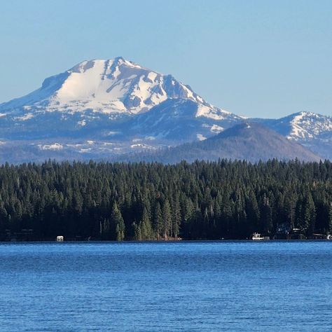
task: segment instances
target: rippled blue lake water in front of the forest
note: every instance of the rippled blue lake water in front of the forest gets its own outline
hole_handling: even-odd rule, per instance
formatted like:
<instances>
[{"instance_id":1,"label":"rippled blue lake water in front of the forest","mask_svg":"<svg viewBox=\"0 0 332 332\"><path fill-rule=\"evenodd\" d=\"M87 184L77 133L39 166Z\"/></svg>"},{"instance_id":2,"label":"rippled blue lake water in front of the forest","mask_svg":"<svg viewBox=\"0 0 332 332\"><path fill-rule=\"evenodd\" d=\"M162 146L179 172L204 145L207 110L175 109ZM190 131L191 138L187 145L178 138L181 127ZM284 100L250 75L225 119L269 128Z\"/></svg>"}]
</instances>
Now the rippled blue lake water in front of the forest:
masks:
<instances>
[{"instance_id":1,"label":"rippled blue lake water in front of the forest","mask_svg":"<svg viewBox=\"0 0 332 332\"><path fill-rule=\"evenodd\" d=\"M0 244L0 331L332 331L332 241Z\"/></svg>"}]
</instances>

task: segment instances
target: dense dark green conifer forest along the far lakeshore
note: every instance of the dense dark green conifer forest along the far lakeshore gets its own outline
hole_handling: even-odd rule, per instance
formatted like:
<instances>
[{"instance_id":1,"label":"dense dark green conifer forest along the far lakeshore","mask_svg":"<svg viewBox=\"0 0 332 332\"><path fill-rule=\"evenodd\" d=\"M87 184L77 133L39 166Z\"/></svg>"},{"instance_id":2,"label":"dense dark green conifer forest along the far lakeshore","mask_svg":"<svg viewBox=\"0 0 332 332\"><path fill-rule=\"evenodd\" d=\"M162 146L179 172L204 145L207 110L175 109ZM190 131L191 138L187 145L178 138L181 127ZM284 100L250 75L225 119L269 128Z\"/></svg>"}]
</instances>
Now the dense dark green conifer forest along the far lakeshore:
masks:
<instances>
[{"instance_id":1,"label":"dense dark green conifer forest along the far lakeshore","mask_svg":"<svg viewBox=\"0 0 332 332\"><path fill-rule=\"evenodd\" d=\"M244 239L332 231L332 163L48 161L0 167L0 240Z\"/></svg>"}]
</instances>

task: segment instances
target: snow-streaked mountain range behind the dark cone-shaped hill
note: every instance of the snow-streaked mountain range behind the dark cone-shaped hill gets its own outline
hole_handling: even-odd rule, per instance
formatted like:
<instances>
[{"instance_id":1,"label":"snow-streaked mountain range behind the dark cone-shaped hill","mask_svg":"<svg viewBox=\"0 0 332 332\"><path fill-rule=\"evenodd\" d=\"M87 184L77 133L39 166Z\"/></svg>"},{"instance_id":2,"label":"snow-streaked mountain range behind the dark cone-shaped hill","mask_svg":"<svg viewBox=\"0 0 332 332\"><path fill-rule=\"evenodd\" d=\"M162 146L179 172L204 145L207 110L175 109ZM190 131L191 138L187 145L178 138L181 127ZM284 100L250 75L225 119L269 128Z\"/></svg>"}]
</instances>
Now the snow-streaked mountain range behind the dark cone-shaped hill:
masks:
<instances>
[{"instance_id":1,"label":"snow-streaked mountain range behind the dark cone-shaped hill","mask_svg":"<svg viewBox=\"0 0 332 332\"><path fill-rule=\"evenodd\" d=\"M122 57L83 61L0 104L0 162L106 159L202 141L243 120L171 75ZM296 113L255 120L332 159L331 118Z\"/></svg>"}]
</instances>

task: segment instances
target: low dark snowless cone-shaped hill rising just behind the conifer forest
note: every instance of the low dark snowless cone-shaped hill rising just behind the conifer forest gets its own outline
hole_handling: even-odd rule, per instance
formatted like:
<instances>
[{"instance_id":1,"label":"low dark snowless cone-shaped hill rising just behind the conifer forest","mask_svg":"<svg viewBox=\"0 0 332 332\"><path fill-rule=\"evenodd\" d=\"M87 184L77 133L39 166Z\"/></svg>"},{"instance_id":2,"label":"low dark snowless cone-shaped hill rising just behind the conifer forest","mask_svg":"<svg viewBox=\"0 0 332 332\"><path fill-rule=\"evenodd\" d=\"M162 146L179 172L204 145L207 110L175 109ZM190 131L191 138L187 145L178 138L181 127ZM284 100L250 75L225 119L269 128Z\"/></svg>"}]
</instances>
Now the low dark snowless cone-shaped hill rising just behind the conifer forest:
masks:
<instances>
[{"instance_id":1,"label":"low dark snowless cone-shaped hill rising just behind the conifer forest","mask_svg":"<svg viewBox=\"0 0 332 332\"><path fill-rule=\"evenodd\" d=\"M259 123L241 123L204 141L174 146L153 153L126 155L126 161L158 161L175 163L181 160L291 160L319 161L320 157L300 144Z\"/></svg>"}]
</instances>

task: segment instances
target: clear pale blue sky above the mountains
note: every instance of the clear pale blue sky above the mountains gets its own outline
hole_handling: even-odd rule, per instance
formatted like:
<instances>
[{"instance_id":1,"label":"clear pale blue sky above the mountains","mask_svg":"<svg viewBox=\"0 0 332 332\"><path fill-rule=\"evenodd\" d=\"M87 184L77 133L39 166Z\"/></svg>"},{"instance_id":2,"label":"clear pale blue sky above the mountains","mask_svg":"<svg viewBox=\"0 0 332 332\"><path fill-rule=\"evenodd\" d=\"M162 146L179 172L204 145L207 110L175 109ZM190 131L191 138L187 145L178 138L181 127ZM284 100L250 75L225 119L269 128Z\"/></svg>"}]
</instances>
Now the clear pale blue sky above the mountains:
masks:
<instances>
[{"instance_id":1,"label":"clear pale blue sky above the mountains","mask_svg":"<svg viewBox=\"0 0 332 332\"><path fill-rule=\"evenodd\" d=\"M233 113L332 116L331 0L1 0L0 50L0 102L121 55Z\"/></svg>"}]
</instances>

